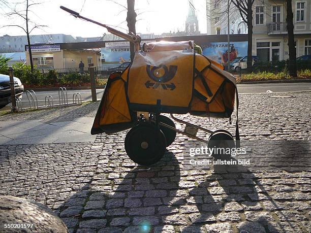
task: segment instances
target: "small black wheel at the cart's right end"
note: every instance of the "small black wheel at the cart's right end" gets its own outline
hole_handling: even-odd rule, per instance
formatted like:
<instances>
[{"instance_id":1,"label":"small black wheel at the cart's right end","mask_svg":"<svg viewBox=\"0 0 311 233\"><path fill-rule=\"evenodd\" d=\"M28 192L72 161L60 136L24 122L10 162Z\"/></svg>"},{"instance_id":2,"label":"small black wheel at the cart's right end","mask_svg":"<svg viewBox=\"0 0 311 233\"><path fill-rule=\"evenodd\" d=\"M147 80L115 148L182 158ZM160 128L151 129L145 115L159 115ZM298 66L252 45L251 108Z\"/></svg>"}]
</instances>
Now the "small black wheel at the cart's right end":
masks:
<instances>
[{"instance_id":1,"label":"small black wheel at the cart's right end","mask_svg":"<svg viewBox=\"0 0 311 233\"><path fill-rule=\"evenodd\" d=\"M234 139L229 131L219 129L209 136L208 147L217 150L212 154L215 158L227 158L231 156L229 149L235 148Z\"/></svg>"}]
</instances>

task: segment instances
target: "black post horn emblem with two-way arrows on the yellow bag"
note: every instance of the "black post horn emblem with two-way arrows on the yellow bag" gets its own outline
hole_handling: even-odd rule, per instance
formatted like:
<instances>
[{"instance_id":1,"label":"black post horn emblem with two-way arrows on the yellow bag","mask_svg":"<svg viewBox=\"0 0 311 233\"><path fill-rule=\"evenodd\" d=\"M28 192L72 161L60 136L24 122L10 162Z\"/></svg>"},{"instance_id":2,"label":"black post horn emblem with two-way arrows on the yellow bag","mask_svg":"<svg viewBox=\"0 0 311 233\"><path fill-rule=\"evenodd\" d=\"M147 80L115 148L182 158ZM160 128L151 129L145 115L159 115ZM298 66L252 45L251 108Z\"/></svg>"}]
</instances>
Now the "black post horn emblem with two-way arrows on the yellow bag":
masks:
<instances>
[{"instance_id":1,"label":"black post horn emblem with two-way arrows on the yellow bag","mask_svg":"<svg viewBox=\"0 0 311 233\"><path fill-rule=\"evenodd\" d=\"M164 74L161 77L157 76L160 69L164 70ZM177 72L177 65L170 65L169 69L167 68L166 65L159 65L159 66L154 65L154 66L152 66L152 68L151 68L151 65L147 65L146 70L147 70L147 74L148 74L149 78L155 82L154 83L154 82L148 80L145 83L145 86L147 88L152 87L153 89L157 89L161 84L161 86L164 90L168 90L168 89L174 90L175 89L176 86L174 83L169 83L169 84L164 84L164 83L169 82L170 80L172 80L172 78L174 78L174 76L176 75L176 72Z\"/></svg>"}]
</instances>

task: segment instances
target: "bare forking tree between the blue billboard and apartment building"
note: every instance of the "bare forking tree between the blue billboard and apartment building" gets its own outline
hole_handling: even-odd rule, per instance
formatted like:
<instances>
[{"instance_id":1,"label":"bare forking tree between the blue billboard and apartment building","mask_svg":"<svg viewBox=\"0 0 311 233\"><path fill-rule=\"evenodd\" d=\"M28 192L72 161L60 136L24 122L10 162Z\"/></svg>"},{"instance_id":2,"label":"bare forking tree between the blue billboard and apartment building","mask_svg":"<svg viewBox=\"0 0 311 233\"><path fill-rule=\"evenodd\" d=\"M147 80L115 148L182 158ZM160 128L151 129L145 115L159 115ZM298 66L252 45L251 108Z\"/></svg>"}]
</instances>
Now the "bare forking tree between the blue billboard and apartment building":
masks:
<instances>
[{"instance_id":1,"label":"bare forking tree between the blue billboard and apartment building","mask_svg":"<svg viewBox=\"0 0 311 233\"><path fill-rule=\"evenodd\" d=\"M252 71L253 56L253 4L255 0L232 0L237 7L243 21L247 24L247 71Z\"/></svg>"}]
</instances>

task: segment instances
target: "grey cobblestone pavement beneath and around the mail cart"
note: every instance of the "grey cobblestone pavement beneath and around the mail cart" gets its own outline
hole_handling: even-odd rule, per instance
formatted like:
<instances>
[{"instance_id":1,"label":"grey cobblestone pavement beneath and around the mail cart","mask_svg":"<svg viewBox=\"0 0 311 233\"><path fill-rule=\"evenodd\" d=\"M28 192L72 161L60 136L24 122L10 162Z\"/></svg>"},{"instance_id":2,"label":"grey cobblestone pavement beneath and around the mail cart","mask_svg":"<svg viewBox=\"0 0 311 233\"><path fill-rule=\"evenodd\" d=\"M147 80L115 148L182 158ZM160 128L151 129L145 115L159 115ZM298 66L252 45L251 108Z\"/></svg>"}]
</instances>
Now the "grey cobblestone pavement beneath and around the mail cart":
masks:
<instances>
[{"instance_id":1,"label":"grey cobblestone pavement beneath and around the mail cart","mask_svg":"<svg viewBox=\"0 0 311 233\"><path fill-rule=\"evenodd\" d=\"M0 195L47 205L71 232L311 232L311 93L273 95L240 95L242 142L273 145L291 140L284 150L299 144L306 150L278 158L271 156L273 151L255 153L256 168L187 171L183 152L189 140L181 135L149 170L127 156L125 131L98 135L94 143L2 145ZM97 107L5 115L0 120L91 117ZM227 119L179 117L234 132Z\"/></svg>"}]
</instances>

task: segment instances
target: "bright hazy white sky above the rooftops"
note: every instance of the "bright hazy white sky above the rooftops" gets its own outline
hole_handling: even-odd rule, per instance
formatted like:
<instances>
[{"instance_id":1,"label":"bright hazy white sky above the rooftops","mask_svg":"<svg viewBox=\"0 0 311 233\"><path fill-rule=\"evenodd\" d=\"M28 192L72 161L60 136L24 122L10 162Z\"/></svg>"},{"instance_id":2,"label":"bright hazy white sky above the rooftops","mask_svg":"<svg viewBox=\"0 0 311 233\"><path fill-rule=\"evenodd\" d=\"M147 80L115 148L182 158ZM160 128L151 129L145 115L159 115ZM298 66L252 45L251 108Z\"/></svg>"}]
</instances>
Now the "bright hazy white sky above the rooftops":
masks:
<instances>
[{"instance_id":1,"label":"bright hazy white sky above the rooftops","mask_svg":"<svg viewBox=\"0 0 311 233\"><path fill-rule=\"evenodd\" d=\"M16 0L7 0L14 5ZM35 3L39 0L29 0ZM206 0L194 0L199 20L199 30L206 33ZM101 23L118 26L126 32L127 11L123 6L127 0L43 0L43 4L32 6L30 20L37 24L47 25L44 29L34 29L33 35L40 34L66 34L80 37L99 37L107 33L106 28L90 22L76 19L69 13L59 9L59 6L70 8L80 15ZM136 0L135 10L137 13L136 32L154 33L183 31L186 16L188 15L188 0ZM17 8L20 9L20 8ZM5 12L10 9L0 9L0 36L24 35L25 32L19 27L2 27L9 24L23 25L18 17L8 17Z\"/></svg>"}]
</instances>

